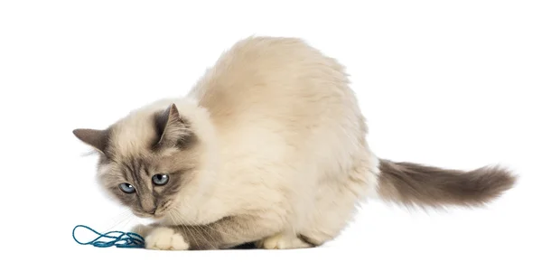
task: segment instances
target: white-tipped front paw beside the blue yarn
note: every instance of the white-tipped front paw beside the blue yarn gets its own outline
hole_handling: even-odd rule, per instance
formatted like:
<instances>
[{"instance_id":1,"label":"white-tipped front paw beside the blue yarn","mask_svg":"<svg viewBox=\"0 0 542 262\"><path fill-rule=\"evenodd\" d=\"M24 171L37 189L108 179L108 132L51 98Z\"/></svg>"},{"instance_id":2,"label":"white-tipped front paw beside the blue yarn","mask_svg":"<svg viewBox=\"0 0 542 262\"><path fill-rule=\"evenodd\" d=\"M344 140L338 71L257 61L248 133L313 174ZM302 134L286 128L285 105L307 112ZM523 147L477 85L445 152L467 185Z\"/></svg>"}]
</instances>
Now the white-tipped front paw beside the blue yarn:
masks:
<instances>
[{"instance_id":1,"label":"white-tipped front paw beside the blue yarn","mask_svg":"<svg viewBox=\"0 0 542 262\"><path fill-rule=\"evenodd\" d=\"M145 248L155 250L188 250L188 243L181 234L168 228L153 229L145 238Z\"/></svg>"}]
</instances>

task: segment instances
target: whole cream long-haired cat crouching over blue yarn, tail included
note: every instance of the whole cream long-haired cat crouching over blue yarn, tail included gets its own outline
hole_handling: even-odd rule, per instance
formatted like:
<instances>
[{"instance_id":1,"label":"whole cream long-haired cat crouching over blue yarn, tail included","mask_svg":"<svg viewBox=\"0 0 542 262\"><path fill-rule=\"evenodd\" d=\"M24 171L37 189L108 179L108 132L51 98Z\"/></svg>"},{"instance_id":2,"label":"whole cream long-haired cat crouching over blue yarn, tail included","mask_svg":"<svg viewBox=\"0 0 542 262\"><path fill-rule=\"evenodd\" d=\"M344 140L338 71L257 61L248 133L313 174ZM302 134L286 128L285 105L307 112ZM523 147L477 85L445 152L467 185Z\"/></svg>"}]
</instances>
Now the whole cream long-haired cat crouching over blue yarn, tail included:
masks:
<instances>
[{"instance_id":1,"label":"whole cream long-haired cat crouching over blue yarn, tail included","mask_svg":"<svg viewBox=\"0 0 542 262\"><path fill-rule=\"evenodd\" d=\"M349 75L290 37L249 36L186 96L74 136L98 153L100 187L136 216L145 248L314 248L369 198L478 207L511 189L501 166L472 171L379 158Z\"/></svg>"}]
</instances>

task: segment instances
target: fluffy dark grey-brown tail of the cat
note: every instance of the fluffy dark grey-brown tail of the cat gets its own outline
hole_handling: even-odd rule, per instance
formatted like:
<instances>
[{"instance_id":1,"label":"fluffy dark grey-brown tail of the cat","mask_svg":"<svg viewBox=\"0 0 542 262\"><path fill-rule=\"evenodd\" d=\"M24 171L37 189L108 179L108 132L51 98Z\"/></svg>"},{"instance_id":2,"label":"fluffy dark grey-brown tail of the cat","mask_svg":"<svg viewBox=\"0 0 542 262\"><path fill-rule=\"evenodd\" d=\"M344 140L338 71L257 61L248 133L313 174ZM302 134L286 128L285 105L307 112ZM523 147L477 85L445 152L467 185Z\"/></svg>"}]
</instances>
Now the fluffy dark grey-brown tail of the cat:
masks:
<instances>
[{"instance_id":1,"label":"fluffy dark grey-brown tail of the cat","mask_svg":"<svg viewBox=\"0 0 542 262\"><path fill-rule=\"evenodd\" d=\"M381 159L379 168L380 197L406 206L481 206L516 183L516 177L500 167L465 172Z\"/></svg>"}]
</instances>

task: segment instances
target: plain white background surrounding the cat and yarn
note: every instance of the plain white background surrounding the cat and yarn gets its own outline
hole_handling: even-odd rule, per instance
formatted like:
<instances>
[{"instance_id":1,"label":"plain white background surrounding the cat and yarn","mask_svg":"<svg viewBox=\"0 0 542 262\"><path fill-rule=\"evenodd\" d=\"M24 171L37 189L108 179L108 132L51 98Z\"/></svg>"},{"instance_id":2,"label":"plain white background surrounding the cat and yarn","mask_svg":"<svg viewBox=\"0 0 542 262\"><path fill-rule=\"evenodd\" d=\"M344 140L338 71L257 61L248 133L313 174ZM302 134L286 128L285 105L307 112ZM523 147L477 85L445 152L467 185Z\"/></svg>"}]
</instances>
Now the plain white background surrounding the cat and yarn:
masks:
<instances>
[{"instance_id":1,"label":"plain white background surrounding the cat and yarn","mask_svg":"<svg viewBox=\"0 0 542 262\"><path fill-rule=\"evenodd\" d=\"M0 256L541 261L541 14L540 1L3 1ZM81 156L89 148L71 130L182 96L252 34L301 37L341 61L380 157L505 164L519 173L517 188L476 210L372 201L322 248L172 253L75 243L77 224L105 231L137 220L98 190L96 158Z\"/></svg>"}]
</instances>

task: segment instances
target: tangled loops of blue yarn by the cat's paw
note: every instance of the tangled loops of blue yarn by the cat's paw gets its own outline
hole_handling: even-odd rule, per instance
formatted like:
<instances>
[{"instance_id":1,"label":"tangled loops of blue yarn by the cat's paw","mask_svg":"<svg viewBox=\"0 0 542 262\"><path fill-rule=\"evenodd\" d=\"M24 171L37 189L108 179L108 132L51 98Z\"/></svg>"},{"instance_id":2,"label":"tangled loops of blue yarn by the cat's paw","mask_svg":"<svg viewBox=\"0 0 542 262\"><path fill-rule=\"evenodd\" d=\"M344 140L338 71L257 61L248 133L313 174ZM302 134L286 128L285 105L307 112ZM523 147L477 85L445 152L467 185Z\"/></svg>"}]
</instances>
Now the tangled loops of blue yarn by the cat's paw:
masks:
<instances>
[{"instance_id":1,"label":"tangled loops of blue yarn by the cat's paw","mask_svg":"<svg viewBox=\"0 0 542 262\"><path fill-rule=\"evenodd\" d=\"M80 242L78 239L75 238L75 229L77 228L89 229L90 231L97 234L98 238L92 239L89 242ZM143 239L143 237L133 232L109 231L105 234L101 234L101 233L98 233L98 231L94 229L90 229L87 226L78 225L75 228L73 228L73 231L71 231L71 236L80 245L93 245L94 247L97 247L97 248L109 248L113 246L117 248L144 248L145 247L145 239ZM111 239L111 240L98 241L98 239L101 239L101 238Z\"/></svg>"}]
</instances>

